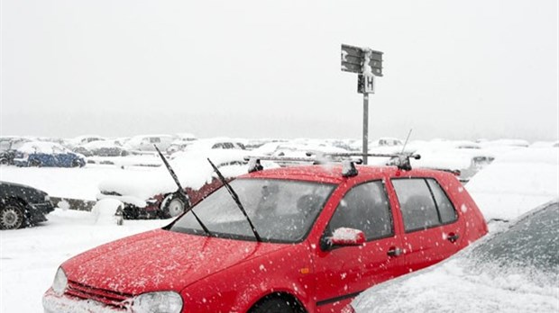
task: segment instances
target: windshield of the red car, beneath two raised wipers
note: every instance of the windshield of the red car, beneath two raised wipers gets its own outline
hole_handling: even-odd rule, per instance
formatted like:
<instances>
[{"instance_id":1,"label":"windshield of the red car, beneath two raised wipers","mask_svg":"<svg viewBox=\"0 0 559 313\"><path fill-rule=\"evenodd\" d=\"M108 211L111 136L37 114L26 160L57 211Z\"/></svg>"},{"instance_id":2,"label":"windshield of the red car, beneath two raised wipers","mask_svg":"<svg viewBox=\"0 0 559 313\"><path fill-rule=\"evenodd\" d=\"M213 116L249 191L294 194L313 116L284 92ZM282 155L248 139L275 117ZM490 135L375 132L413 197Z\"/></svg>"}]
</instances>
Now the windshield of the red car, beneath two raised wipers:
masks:
<instances>
[{"instance_id":1,"label":"windshield of the red car, beneath two raised wipers","mask_svg":"<svg viewBox=\"0 0 559 313\"><path fill-rule=\"evenodd\" d=\"M299 242L322 210L335 185L280 179L236 179L230 183L261 239ZM243 212L225 188L200 201L192 210L214 237L255 240ZM171 231L205 235L192 212L172 224Z\"/></svg>"}]
</instances>

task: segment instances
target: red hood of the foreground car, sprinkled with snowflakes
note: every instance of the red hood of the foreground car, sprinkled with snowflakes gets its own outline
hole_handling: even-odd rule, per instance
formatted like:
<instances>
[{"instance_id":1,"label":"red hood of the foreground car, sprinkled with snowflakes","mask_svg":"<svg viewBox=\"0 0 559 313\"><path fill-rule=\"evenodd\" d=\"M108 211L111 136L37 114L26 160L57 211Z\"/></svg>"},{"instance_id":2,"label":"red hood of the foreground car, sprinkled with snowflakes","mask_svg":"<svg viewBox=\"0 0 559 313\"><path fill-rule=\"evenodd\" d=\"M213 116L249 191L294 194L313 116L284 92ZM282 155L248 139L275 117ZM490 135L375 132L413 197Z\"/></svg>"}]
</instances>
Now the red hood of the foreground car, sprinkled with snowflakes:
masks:
<instances>
[{"instance_id":1,"label":"red hood of the foreground car, sprinkled with snowflakes","mask_svg":"<svg viewBox=\"0 0 559 313\"><path fill-rule=\"evenodd\" d=\"M181 291L213 273L286 247L157 229L98 246L62 268L69 281L95 289L130 295Z\"/></svg>"}]
</instances>

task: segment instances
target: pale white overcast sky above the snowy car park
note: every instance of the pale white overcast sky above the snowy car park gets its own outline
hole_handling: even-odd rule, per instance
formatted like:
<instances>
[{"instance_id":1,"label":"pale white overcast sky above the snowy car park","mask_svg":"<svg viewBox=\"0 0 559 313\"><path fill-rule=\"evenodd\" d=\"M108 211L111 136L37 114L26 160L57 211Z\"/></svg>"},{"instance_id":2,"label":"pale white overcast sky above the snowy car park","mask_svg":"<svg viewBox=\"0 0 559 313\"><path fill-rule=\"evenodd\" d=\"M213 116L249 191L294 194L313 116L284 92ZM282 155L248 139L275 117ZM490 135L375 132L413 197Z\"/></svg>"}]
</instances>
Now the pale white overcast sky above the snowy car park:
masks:
<instances>
[{"instance_id":1,"label":"pale white overcast sky above the snowy car park","mask_svg":"<svg viewBox=\"0 0 559 313\"><path fill-rule=\"evenodd\" d=\"M558 137L557 0L2 0L1 135Z\"/></svg>"}]
</instances>

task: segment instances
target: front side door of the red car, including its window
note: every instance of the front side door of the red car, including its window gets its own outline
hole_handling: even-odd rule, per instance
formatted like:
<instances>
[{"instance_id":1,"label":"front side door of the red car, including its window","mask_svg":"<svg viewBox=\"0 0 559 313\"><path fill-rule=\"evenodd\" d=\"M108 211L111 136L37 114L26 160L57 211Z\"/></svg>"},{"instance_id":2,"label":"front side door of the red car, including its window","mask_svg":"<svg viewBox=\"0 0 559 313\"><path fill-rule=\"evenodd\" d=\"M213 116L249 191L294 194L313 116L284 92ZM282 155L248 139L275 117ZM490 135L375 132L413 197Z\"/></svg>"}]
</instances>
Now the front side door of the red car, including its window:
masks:
<instances>
[{"instance_id":1,"label":"front side door of the red car, including its window","mask_svg":"<svg viewBox=\"0 0 559 313\"><path fill-rule=\"evenodd\" d=\"M328 246L337 228L362 230L362 246ZM398 254L401 240L394 226L389 199L380 180L361 183L345 193L316 247L316 309L343 306L371 285L404 273Z\"/></svg>"}]
</instances>

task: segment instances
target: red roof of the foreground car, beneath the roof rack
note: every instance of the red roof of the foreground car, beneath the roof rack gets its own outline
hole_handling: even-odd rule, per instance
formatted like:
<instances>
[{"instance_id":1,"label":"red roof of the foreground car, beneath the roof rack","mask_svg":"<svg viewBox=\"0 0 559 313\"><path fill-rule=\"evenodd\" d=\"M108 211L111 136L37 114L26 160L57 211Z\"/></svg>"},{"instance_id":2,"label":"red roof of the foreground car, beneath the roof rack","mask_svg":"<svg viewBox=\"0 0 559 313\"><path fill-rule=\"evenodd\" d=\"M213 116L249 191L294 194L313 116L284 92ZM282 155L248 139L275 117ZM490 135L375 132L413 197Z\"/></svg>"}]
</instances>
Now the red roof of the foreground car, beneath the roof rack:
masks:
<instances>
[{"instance_id":1,"label":"red roof of the foreground car, beneath the roof rack","mask_svg":"<svg viewBox=\"0 0 559 313\"><path fill-rule=\"evenodd\" d=\"M414 168L410 171L399 170L396 166L376 166L376 165L356 165L359 179L380 179L385 176L389 177L407 177L407 176L439 176L451 175L442 171L426 168ZM342 165L297 165L289 167L280 167L265 169L262 171L243 174L239 178L271 178L271 179L291 179L322 183L342 183L347 178L342 175Z\"/></svg>"}]
</instances>

